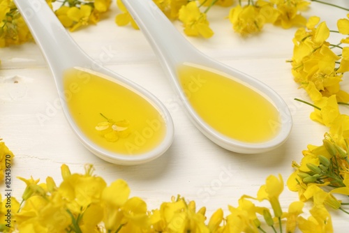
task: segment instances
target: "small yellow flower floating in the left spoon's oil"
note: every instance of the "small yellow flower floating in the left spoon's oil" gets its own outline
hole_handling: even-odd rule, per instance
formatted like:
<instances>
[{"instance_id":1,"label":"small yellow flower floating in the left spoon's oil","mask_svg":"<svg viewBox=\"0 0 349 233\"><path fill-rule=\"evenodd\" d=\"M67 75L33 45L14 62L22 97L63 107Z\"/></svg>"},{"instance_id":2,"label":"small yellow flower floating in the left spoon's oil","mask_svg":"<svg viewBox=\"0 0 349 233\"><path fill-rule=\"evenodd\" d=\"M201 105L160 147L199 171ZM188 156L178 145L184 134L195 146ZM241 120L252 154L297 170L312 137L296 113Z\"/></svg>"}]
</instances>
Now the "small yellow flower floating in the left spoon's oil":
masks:
<instances>
[{"instance_id":1,"label":"small yellow flower floating in the left spoon's oil","mask_svg":"<svg viewBox=\"0 0 349 233\"><path fill-rule=\"evenodd\" d=\"M127 120L113 121L103 114L101 116L106 120L97 124L97 132L108 142L116 142L119 137L126 138L130 135L130 123Z\"/></svg>"}]
</instances>

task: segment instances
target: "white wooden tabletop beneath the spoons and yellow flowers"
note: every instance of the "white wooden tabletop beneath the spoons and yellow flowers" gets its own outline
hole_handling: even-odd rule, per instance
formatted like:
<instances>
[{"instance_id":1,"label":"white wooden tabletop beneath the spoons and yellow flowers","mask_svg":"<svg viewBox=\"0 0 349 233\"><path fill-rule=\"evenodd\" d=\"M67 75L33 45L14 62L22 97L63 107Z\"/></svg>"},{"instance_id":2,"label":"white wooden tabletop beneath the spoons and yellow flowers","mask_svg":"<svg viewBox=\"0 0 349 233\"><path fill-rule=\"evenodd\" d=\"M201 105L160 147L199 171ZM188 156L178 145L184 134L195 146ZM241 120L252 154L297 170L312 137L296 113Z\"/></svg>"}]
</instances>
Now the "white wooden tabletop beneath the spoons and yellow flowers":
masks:
<instances>
[{"instance_id":1,"label":"white wooden tabletop beneath the spoons and yellow flowers","mask_svg":"<svg viewBox=\"0 0 349 233\"><path fill-rule=\"evenodd\" d=\"M332 2L349 7L345 0ZM207 206L207 216L218 208L223 208L226 216L228 204L237 206L237 200L244 194L255 196L269 174L281 174L286 181L293 171L292 160L300 162L307 144L322 144L327 131L325 126L309 119L311 107L293 100L307 99L293 81L290 63L285 62L292 58L296 28L285 30L266 25L262 33L241 38L225 19L228 10L214 7L209 11L210 26L215 32L213 38L187 38L205 54L262 80L284 98L294 120L285 144L267 153L244 155L226 151L209 141L179 106L170 80L141 31L131 26L117 27L114 23L119 10L113 1L110 12L97 26L76 31L71 36L93 59L141 84L165 103L175 125L172 146L160 158L131 167L97 158L80 144L57 107L59 98L54 80L38 47L27 43L1 48L0 137L15 153L13 195L20 199L25 187L15 176L33 176L42 181L52 176L60 183L61 164L69 165L72 172L83 173L84 164L92 163L95 173L103 176L107 183L125 179L131 195L142 197L149 209L158 208L161 202L180 194L195 200L199 207ZM336 20L346 17L346 12L311 3L311 9L304 15L318 15L326 20L330 29L336 29ZM180 22L174 22L174 26L181 30ZM347 91L348 78L347 75L343 82ZM47 120L40 121L39 114L45 114ZM1 184L0 190L3 188ZM298 196L285 186L280 199L287 211L288 204L298 200ZM348 216L339 211L332 212L332 216L335 232L346 232Z\"/></svg>"}]
</instances>

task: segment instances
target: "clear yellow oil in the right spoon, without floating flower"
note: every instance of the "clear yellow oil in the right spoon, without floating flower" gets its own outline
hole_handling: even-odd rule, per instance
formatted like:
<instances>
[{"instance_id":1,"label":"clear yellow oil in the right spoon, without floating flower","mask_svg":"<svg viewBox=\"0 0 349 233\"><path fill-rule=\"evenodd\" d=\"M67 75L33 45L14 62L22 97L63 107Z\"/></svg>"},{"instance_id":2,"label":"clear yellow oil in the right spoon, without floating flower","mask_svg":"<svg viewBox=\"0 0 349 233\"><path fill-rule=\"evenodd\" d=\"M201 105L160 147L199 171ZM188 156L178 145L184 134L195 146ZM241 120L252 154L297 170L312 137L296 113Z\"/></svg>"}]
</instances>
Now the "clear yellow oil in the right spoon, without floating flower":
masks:
<instances>
[{"instance_id":1,"label":"clear yellow oil in the right spoon, without floating flower","mask_svg":"<svg viewBox=\"0 0 349 233\"><path fill-rule=\"evenodd\" d=\"M279 111L265 96L216 70L191 63L178 68L189 103L209 126L242 142L265 142L279 133Z\"/></svg>"}]
</instances>

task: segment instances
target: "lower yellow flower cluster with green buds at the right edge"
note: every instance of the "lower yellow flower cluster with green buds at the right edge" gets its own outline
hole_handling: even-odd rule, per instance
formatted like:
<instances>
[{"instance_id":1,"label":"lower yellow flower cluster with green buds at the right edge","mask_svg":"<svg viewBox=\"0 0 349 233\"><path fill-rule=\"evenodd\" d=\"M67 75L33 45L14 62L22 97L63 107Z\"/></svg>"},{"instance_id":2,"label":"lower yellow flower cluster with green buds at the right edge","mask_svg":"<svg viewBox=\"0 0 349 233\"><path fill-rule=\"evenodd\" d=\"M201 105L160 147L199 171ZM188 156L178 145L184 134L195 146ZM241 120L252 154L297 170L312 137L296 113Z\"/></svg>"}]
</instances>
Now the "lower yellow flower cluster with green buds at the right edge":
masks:
<instances>
[{"instance_id":1,"label":"lower yellow flower cluster with green buds at the right edge","mask_svg":"<svg viewBox=\"0 0 349 233\"><path fill-rule=\"evenodd\" d=\"M343 209L349 195L349 116L339 112L336 96L323 97L322 107L315 107L311 118L329 127L322 145L309 145L300 164L293 162L295 172L288 188L299 194L299 200L313 200L315 205ZM335 197L334 193L344 195ZM339 200L341 198L341 200Z\"/></svg>"}]
</instances>

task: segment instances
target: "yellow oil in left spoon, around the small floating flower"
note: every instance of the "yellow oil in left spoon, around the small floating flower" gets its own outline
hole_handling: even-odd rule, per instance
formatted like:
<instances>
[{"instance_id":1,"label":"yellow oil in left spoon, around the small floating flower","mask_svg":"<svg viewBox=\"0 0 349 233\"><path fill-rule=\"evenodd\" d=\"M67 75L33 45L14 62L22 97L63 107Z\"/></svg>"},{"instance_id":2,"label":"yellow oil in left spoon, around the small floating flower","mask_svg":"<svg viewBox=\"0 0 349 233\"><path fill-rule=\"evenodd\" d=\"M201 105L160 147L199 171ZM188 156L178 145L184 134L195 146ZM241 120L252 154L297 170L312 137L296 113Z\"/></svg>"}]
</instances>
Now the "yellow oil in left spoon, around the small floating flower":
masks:
<instances>
[{"instance_id":1,"label":"yellow oil in left spoon, around the small floating flower","mask_svg":"<svg viewBox=\"0 0 349 233\"><path fill-rule=\"evenodd\" d=\"M137 155L151 151L165 137L165 121L153 105L98 73L82 68L66 70L64 96L77 126L104 149ZM105 117L115 126L101 133L107 122Z\"/></svg>"}]
</instances>

